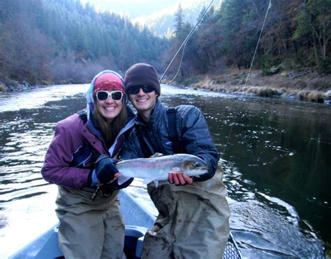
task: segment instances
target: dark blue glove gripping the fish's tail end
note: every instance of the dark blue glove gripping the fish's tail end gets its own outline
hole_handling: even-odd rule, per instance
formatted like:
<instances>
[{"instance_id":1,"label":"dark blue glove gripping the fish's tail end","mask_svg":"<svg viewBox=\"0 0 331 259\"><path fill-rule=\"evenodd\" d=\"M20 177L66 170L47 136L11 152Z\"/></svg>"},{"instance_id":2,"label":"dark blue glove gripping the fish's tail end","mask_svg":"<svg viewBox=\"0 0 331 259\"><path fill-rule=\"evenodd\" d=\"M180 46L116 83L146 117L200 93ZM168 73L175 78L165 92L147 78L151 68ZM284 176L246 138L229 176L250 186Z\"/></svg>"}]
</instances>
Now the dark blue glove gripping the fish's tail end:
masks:
<instances>
[{"instance_id":1,"label":"dark blue glove gripping the fish's tail end","mask_svg":"<svg viewBox=\"0 0 331 259\"><path fill-rule=\"evenodd\" d=\"M115 166L117 162L117 159L101 155L96 160L96 167L91 173L91 185L95 184L96 180L103 184L114 180L115 173L119 172Z\"/></svg>"}]
</instances>

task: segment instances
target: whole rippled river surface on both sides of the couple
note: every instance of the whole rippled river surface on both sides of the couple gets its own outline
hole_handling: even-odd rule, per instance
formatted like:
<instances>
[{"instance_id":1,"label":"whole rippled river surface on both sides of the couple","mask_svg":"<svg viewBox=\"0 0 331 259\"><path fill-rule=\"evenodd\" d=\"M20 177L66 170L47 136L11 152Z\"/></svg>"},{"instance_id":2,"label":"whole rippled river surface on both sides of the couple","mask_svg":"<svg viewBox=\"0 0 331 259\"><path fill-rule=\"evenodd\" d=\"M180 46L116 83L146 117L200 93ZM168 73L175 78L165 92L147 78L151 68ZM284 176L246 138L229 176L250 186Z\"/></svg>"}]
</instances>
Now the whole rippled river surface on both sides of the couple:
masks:
<instances>
[{"instance_id":1,"label":"whole rippled river surface on both sides of the couple","mask_svg":"<svg viewBox=\"0 0 331 259\"><path fill-rule=\"evenodd\" d=\"M85 107L87 88L0 94L0 258L57 222L57 187L40 169L55 123ZM161 101L203 110L223 160L231 230L245 258L325 256L331 242L330 106L172 86L162 86ZM128 191L156 214L142 182Z\"/></svg>"}]
</instances>

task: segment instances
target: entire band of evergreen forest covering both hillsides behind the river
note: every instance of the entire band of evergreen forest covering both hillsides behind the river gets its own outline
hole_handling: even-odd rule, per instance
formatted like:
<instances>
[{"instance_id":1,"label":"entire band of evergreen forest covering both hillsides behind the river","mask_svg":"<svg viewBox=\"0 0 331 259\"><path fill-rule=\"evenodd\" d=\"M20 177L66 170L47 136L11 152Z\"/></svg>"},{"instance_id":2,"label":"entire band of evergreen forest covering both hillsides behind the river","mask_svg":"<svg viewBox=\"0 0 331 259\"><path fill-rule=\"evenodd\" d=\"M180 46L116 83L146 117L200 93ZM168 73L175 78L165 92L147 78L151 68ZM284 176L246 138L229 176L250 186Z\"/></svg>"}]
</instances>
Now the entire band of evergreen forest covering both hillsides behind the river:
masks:
<instances>
[{"instance_id":1,"label":"entire band of evergreen forest covering both hillsides behind the river","mask_svg":"<svg viewBox=\"0 0 331 259\"><path fill-rule=\"evenodd\" d=\"M223 0L209 9L186 44L179 79L249 68L255 50L253 68L265 74L302 68L330 74L331 0L269 3ZM124 73L135 62L152 63L161 73L193 26L184 20L179 6L169 40L78 0L1 0L0 83L86 83L103 69Z\"/></svg>"}]
</instances>

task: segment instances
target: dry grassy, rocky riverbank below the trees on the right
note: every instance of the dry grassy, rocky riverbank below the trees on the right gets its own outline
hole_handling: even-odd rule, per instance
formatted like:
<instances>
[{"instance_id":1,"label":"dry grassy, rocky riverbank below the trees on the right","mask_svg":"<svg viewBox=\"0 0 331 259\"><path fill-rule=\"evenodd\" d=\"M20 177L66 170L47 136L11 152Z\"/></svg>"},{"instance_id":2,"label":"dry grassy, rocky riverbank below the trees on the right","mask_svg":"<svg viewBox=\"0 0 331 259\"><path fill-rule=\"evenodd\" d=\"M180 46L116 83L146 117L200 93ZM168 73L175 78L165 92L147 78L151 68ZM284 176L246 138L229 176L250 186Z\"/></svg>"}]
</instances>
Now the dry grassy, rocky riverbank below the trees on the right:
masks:
<instances>
[{"instance_id":1,"label":"dry grassy, rocky riverbank below the trees on the right","mask_svg":"<svg viewBox=\"0 0 331 259\"><path fill-rule=\"evenodd\" d=\"M331 76L321 76L310 69L279 72L275 68L267 72L252 70L250 73L249 70L229 69L222 74L203 74L175 81L175 85L331 104Z\"/></svg>"}]
</instances>

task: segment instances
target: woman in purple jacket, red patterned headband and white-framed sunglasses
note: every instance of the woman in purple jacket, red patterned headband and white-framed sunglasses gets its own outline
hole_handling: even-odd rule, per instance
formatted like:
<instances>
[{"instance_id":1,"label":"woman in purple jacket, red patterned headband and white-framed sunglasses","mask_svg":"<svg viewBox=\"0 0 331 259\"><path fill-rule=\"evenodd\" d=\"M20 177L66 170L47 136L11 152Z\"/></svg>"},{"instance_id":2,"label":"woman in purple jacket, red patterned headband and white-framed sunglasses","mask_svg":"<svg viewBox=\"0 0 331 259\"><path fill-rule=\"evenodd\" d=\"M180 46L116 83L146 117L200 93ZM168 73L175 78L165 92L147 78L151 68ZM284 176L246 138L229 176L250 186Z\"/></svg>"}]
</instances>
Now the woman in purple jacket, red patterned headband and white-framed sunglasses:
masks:
<instances>
[{"instance_id":1,"label":"woman in purple jacket, red patterned headband and white-framed sunglasses","mask_svg":"<svg viewBox=\"0 0 331 259\"><path fill-rule=\"evenodd\" d=\"M105 70L87 91L87 109L57 123L43 178L59 187L59 247L65 258L125 258L116 157L133 126L122 77ZM128 115L129 114L129 115Z\"/></svg>"}]
</instances>

